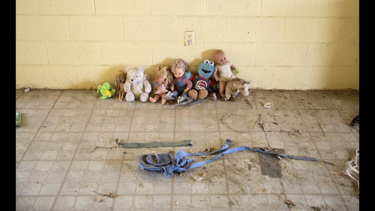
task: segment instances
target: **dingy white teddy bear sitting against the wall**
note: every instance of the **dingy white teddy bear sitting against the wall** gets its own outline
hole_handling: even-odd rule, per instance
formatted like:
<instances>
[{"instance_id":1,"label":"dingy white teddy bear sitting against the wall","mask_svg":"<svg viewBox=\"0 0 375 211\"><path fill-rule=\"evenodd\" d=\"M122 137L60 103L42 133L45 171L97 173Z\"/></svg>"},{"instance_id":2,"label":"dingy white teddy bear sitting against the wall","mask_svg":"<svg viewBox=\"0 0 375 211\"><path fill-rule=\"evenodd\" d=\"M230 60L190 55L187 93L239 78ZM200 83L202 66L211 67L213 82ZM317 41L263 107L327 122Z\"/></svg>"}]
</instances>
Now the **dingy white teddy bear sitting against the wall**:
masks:
<instances>
[{"instance_id":1,"label":"dingy white teddy bear sitting against the wall","mask_svg":"<svg viewBox=\"0 0 375 211\"><path fill-rule=\"evenodd\" d=\"M134 98L139 98L142 102L146 102L148 100L148 93L151 92L148 74L144 75L143 67L126 68L126 72L127 76L124 84L126 101L133 102Z\"/></svg>"}]
</instances>

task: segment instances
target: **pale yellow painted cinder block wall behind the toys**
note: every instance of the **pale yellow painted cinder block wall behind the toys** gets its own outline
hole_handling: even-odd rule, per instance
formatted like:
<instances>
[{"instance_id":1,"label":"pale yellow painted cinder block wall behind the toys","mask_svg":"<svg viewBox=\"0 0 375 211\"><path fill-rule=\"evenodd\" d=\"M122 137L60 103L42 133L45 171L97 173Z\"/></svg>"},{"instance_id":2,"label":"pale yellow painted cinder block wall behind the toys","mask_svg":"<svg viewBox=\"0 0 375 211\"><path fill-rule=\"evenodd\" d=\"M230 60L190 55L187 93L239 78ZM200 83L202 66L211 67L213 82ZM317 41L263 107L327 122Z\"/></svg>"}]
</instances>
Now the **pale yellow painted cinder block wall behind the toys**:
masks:
<instances>
[{"instance_id":1,"label":"pale yellow painted cinder block wall behind the toys","mask_svg":"<svg viewBox=\"0 0 375 211\"><path fill-rule=\"evenodd\" d=\"M16 88L96 89L173 57L196 72L217 48L253 88L359 89L359 0L16 0Z\"/></svg>"}]
</instances>

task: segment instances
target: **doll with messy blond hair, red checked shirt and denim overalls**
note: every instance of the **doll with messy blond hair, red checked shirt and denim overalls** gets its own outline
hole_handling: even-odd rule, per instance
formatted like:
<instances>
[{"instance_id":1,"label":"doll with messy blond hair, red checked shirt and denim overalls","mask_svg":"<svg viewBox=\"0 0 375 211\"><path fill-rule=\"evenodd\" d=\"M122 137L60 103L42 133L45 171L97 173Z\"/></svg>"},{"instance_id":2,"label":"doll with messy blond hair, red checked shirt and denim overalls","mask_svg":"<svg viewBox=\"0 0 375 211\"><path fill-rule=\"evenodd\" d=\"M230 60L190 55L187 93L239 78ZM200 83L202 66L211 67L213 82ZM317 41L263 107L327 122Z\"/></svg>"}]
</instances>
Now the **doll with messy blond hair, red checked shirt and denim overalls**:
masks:
<instances>
[{"instance_id":1,"label":"doll with messy blond hair, red checked shirt and denim overalls","mask_svg":"<svg viewBox=\"0 0 375 211\"><path fill-rule=\"evenodd\" d=\"M171 71L175 78L171 82L172 93L165 96L166 100L177 99L179 95L187 98L187 92L189 92L193 86L193 83L189 79L184 78L185 70L189 67L189 65L190 63L184 61L183 59L173 59Z\"/></svg>"}]
</instances>

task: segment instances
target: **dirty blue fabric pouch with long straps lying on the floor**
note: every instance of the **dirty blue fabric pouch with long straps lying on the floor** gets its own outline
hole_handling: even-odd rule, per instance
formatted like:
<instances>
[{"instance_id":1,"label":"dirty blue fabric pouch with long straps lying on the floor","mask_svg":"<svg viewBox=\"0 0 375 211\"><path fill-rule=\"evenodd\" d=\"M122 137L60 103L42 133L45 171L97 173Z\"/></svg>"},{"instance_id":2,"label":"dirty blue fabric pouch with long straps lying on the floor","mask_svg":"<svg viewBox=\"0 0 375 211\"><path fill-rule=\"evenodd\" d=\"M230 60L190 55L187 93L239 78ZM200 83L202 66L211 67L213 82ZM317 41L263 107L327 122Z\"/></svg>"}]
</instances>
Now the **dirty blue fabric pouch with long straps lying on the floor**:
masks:
<instances>
[{"instance_id":1,"label":"dirty blue fabric pouch with long straps lying on the floor","mask_svg":"<svg viewBox=\"0 0 375 211\"><path fill-rule=\"evenodd\" d=\"M307 160L307 161L318 161L317 158L309 158L309 157L295 157L292 155L282 155L275 152L271 152L268 150L262 150L262 149L253 149L247 146L240 146L228 149L229 146L231 146L231 140L226 139L225 146L223 148L213 151L213 152L184 152L182 150L178 151L175 155L175 157L172 157L172 154L151 154L151 155L141 155L138 158L138 164L141 166L142 169L148 170L148 171L154 171L154 172L163 172L166 177L172 176L173 172L183 173L186 170L193 169L196 167L204 166L208 163L213 162L217 158L221 157L225 154L231 154L233 152L239 152L239 151L245 151L245 150L251 150L254 152L262 152L265 154L273 154L278 155L280 157L284 158L292 158L296 160ZM228 149L228 150L227 150ZM197 163L189 164L193 161L193 159L187 159L186 157L191 156L198 156L198 155L211 155L221 152L220 154L214 156L211 159L200 161Z\"/></svg>"}]
</instances>

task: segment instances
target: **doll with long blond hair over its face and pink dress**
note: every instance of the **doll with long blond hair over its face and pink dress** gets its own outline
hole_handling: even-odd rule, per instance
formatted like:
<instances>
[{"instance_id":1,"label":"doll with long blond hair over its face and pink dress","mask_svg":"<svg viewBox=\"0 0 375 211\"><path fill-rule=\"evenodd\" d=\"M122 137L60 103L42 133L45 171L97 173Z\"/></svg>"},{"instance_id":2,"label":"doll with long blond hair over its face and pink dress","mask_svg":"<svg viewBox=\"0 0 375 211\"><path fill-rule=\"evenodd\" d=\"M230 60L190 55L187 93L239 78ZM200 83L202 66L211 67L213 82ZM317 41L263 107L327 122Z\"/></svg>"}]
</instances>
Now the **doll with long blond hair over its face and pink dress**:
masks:
<instances>
[{"instance_id":1,"label":"doll with long blond hair over its face and pink dress","mask_svg":"<svg viewBox=\"0 0 375 211\"><path fill-rule=\"evenodd\" d=\"M164 96L168 92L166 87L169 86L169 83L172 81L172 74L169 72L170 68L169 66L160 65L155 70L155 82L153 95L154 97L150 97L151 102L156 102L160 97L162 98L162 105L165 104Z\"/></svg>"}]
</instances>

